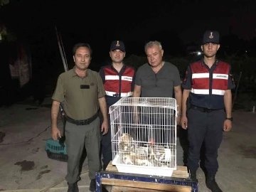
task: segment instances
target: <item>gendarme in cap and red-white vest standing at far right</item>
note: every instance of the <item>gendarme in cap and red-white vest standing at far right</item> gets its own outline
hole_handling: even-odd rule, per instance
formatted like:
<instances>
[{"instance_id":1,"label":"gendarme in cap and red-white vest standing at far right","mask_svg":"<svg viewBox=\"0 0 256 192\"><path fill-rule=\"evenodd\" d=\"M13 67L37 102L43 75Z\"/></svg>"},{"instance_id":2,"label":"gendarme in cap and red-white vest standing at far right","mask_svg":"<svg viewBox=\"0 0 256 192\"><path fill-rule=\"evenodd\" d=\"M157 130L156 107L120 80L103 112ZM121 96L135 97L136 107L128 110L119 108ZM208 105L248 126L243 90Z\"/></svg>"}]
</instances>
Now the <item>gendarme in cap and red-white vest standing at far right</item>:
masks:
<instances>
[{"instance_id":1,"label":"gendarme in cap and red-white vest standing at far right","mask_svg":"<svg viewBox=\"0 0 256 192\"><path fill-rule=\"evenodd\" d=\"M210 58L207 54L217 53L218 45L218 31L206 31L202 42L205 56L202 60L188 65L182 85L184 92L189 92L186 102L188 169L191 172L191 178L196 178L201 146L204 142L206 186L216 192L221 191L215 182L215 174L218 171L218 149L223 139L225 121L232 121L232 117L227 116L228 111L230 113L232 111L230 90L235 88L230 64L216 59L215 55L211 56L214 59L213 65L209 66L206 63L206 58ZM185 95L184 92L183 95Z\"/></svg>"}]
</instances>

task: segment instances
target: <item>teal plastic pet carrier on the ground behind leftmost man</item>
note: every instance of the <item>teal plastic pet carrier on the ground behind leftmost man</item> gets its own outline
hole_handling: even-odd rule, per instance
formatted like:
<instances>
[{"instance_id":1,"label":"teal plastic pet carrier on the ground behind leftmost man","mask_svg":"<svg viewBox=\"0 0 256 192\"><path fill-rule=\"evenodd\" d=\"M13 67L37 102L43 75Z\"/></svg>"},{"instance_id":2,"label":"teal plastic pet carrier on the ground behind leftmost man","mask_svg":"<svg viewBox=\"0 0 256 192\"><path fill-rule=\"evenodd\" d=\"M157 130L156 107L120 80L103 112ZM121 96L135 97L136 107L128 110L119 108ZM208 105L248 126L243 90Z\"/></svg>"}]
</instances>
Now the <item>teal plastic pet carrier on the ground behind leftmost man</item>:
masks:
<instances>
[{"instance_id":1,"label":"teal plastic pet carrier on the ground behind leftmost man","mask_svg":"<svg viewBox=\"0 0 256 192\"><path fill-rule=\"evenodd\" d=\"M49 159L57 161L68 161L68 154L66 151L65 142L60 144L58 141L54 141L52 138L46 140L46 153Z\"/></svg>"}]
</instances>

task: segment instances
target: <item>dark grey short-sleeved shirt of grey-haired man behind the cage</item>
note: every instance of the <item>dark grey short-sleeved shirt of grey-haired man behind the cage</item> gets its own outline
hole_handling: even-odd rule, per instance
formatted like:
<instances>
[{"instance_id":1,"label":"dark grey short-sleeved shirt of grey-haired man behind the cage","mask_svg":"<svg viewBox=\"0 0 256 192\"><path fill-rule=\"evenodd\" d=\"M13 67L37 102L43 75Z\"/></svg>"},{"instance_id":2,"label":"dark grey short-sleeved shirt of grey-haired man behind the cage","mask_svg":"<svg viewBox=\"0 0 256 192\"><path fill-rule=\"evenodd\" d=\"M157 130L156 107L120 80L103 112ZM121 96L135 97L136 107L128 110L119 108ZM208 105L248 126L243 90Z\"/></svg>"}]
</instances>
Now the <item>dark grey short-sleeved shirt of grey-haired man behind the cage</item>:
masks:
<instances>
[{"instance_id":1,"label":"dark grey short-sleeved shirt of grey-haired man behind the cage","mask_svg":"<svg viewBox=\"0 0 256 192\"><path fill-rule=\"evenodd\" d=\"M137 70L135 85L142 86L142 97L173 97L181 78L178 68L169 62L164 62L158 73L145 63Z\"/></svg>"}]
</instances>

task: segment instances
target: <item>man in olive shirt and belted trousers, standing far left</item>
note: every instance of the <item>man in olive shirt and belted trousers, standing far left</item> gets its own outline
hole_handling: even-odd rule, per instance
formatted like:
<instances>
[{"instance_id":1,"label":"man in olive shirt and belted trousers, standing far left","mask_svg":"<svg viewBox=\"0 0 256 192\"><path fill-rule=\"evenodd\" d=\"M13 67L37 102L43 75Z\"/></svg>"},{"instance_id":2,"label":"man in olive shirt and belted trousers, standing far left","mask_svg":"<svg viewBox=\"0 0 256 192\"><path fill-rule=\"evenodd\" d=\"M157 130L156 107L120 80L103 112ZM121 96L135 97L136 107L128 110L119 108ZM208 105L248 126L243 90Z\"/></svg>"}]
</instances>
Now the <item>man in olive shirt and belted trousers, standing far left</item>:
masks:
<instances>
[{"instance_id":1,"label":"man in olive shirt and belted trousers, standing far left","mask_svg":"<svg viewBox=\"0 0 256 192\"><path fill-rule=\"evenodd\" d=\"M79 163L82 150L87 151L90 191L96 191L95 173L100 171L100 118L103 114L101 130L107 133L107 104L105 89L100 75L88 69L92 49L87 43L78 43L73 48L75 67L60 74L53 94L52 137L60 137L57 118L60 103L63 102L66 114L65 143L68 153L68 192L78 192Z\"/></svg>"}]
</instances>

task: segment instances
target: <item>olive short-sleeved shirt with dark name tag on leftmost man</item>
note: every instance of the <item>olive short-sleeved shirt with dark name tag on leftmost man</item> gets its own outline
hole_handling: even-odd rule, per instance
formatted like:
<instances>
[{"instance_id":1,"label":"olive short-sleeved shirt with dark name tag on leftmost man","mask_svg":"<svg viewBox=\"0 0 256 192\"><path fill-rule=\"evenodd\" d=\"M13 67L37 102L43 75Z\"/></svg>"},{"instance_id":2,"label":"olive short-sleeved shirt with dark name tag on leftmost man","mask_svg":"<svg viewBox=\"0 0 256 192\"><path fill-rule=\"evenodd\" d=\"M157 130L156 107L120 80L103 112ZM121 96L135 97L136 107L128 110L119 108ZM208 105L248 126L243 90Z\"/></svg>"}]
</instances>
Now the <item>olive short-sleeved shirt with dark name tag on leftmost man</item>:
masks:
<instances>
[{"instance_id":1,"label":"olive short-sleeved shirt with dark name tag on leftmost man","mask_svg":"<svg viewBox=\"0 0 256 192\"><path fill-rule=\"evenodd\" d=\"M87 69L85 78L75 73L75 68L62 73L53 93L53 100L64 102L68 117L88 119L100 109L99 98L106 95L99 73ZM81 86L84 85L84 86Z\"/></svg>"}]
</instances>

